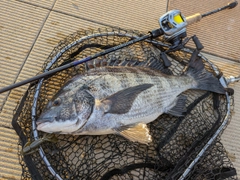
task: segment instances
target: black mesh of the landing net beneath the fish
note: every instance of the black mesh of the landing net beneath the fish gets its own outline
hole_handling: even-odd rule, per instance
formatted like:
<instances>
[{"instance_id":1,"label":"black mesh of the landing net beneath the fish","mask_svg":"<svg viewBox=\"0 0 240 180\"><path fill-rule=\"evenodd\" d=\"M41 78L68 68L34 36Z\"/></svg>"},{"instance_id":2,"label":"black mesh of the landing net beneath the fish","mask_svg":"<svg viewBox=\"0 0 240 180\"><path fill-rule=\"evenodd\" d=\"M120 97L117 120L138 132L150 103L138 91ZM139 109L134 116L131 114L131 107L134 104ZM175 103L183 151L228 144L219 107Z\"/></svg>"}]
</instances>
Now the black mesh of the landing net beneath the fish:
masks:
<instances>
[{"instance_id":1,"label":"black mesh of the landing net beneath the fish","mask_svg":"<svg viewBox=\"0 0 240 180\"><path fill-rule=\"evenodd\" d=\"M136 36L141 36L141 33L118 28L80 30L58 44L43 64L43 71L51 61L50 69L54 69ZM94 59L87 67L134 66L157 61L162 72L180 75L191 53L169 53L172 65L167 69L160 58L160 51L164 48L161 40L158 44L139 42L105 55L106 61L102 61L103 57ZM213 72L210 64L203 61L206 69ZM31 84L16 108L13 127L20 136L22 179L178 179L186 171L189 171L183 176L186 179L237 178L220 143L221 133L212 138L225 117L229 116L230 102L225 95L198 90L184 92L187 96L185 117L163 114L148 124L153 138L149 145L133 143L118 135L56 135L57 143L45 141L33 148L31 154L23 156L21 150L27 142L44 136L33 125L35 113L38 117L60 87L85 70L86 65L81 64L45 79L40 87L37 83Z\"/></svg>"}]
</instances>

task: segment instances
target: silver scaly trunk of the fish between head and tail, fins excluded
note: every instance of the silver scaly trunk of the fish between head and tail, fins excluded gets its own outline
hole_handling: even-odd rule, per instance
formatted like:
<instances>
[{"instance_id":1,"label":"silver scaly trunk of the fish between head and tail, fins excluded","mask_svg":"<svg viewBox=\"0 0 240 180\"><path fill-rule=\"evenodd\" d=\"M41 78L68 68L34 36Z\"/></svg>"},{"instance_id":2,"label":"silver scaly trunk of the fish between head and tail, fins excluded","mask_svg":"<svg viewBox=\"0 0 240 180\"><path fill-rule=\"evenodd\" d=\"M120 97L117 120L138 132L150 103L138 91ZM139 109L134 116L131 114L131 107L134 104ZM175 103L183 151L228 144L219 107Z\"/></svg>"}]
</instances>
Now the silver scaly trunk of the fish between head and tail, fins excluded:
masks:
<instances>
[{"instance_id":1,"label":"silver scaly trunk of the fish between head and tail, fins excluded","mask_svg":"<svg viewBox=\"0 0 240 180\"><path fill-rule=\"evenodd\" d=\"M76 81L76 85L80 81ZM95 106L85 126L74 133L108 134L120 126L149 123L167 112L176 97L195 83L188 77L176 78L150 69L131 67L100 68L97 72L88 73L87 81L90 81L87 86L95 98ZM120 90L141 85L147 86L146 90L139 93L133 102L129 102L130 107L127 104L129 99L120 99L116 100L119 112L108 112L111 104L102 100ZM121 112L123 109L126 112Z\"/></svg>"}]
</instances>

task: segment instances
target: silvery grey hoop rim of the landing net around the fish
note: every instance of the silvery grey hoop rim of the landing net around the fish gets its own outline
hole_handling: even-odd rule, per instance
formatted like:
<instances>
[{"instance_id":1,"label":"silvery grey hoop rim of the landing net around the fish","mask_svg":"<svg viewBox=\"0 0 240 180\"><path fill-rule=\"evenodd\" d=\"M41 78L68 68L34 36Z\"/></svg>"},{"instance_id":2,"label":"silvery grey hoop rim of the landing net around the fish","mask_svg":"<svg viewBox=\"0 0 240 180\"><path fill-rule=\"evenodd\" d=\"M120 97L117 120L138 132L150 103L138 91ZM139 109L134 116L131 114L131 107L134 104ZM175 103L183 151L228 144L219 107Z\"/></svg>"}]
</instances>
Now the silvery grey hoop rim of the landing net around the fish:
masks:
<instances>
[{"instance_id":1,"label":"silvery grey hoop rim of the landing net around the fish","mask_svg":"<svg viewBox=\"0 0 240 180\"><path fill-rule=\"evenodd\" d=\"M44 72L49 71L50 68L52 67L52 65L54 63L56 63L58 61L58 59L63 55L63 53L65 53L67 50L69 50L70 48L74 47L75 45L77 45L78 43L81 43L87 39L90 38L94 38L94 37L103 37L103 36L119 36L119 37L130 37L130 38L139 38L139 36L134 36L133 34L129 34L129 33L121 33L121 32L116 32L113 30L113 32L105 32L105 33L96 33L96 34L92 34L92 35L87 35L84 37L81 37L80 39L77 39L75 41L73 41L71 44L68 44L67 46L65 46L64 48L62 48L53 58L52 60L47 64ZM155 45L160 45L160 46L164 46L164 47L169 47L167 44L164 44L162 42L156 41L156 40L146 40L146 42L150 42L152 44ZM192 53L193 51L187 48L183 48L181 49L181 51L186 52L186 53ZM213 71L215 72L215 74L220 74L220 70L218 69L217 66L215 66L210 60L208 60L205 56L203 56L201 53L198 54L198 56L200 56L206 63L208 63L211 68L213 69ZM40 89L42 87L44 78L40 79L39 82L37 83L36 89L35 89L35 93L34 93L34 98L33 98L33 105L32 105L32 115L31 115L31 119L32 119L32 129L33 129L33 137L35 140L39 139L38 136L38 131L36 129L36 112L37 112L37 100L39 98L39 94L40 94ZM193 166L197 163L197 161L203 156L204 152L207 150L207 148L212 144L212 142L217 138L217 136L223 131L223 129L226 127L228 121L229 121L229 117L230 117L230 97L228 95L228 93L225 94L226 95L226 99L227 99L227 113L224 117L224 121L222 123L222 125L218 128L218 130L215 132L215 134L211 137L211 139L207 142L207 144L201 149L200 153L196 156L196 158L191 162L191 164L188 166L188 168L184 171L184 173L181 175L181 177L179 179L184 179L188 173L191 171L191 169L193 168ZM45 165L47 166L48 170L51 172L51 174L56 177L58 180L62 180L62 178L60 177L60 175L54 170L54 168L51 166L50 162L48 161L44 150L42 149L42 147L39 147L39 154L41 156L41 158L43 159Z\"/></svg>"}]
</instances>

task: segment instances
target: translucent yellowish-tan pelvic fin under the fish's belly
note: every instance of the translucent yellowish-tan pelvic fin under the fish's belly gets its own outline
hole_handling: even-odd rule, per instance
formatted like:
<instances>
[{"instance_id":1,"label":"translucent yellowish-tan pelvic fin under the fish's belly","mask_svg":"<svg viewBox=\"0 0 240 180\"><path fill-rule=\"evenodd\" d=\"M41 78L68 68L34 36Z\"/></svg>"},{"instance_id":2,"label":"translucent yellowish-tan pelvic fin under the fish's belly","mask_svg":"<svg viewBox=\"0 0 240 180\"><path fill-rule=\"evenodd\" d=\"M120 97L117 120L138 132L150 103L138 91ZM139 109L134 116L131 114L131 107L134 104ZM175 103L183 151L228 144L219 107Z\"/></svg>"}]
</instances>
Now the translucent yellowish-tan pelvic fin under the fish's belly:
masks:
<instances>
[{"instance_id":1,"label":"translucent yellowish-tan pelvic fin under the fish's belly","mask_svg":"<svg viewBox=\"0 0 240 180\"><path fill-rule=\"evenodd\" d=\"M142 144L152 142L152 136L149 134L149 129L144 123L127 125L115 130L117 133L133 142L137 141Z\"/></svg>"}]
</instances>

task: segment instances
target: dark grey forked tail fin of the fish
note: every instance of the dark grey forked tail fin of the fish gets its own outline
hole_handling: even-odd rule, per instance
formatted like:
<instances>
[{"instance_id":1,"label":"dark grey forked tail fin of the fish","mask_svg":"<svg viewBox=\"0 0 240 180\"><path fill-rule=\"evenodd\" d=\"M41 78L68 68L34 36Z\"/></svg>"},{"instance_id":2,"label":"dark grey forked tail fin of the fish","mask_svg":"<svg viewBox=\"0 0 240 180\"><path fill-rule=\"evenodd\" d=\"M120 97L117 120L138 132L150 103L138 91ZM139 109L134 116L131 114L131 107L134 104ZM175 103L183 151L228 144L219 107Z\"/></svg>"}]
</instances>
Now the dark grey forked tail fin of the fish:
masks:
<instances>
[{"instance_id":1,"label":"dark grey forked tail fin of the fish","mask_svg":"<svg viewBox=\"0 0 240 180\"><path fill-rule=\"evenodd\" d=\"M196 82L192 89L206 90L219 94L225 94L226 92L219 80L204 68L204 64L200 58L189 64L186 74Z\"/></svg>"}]
</instances>

